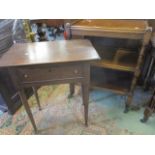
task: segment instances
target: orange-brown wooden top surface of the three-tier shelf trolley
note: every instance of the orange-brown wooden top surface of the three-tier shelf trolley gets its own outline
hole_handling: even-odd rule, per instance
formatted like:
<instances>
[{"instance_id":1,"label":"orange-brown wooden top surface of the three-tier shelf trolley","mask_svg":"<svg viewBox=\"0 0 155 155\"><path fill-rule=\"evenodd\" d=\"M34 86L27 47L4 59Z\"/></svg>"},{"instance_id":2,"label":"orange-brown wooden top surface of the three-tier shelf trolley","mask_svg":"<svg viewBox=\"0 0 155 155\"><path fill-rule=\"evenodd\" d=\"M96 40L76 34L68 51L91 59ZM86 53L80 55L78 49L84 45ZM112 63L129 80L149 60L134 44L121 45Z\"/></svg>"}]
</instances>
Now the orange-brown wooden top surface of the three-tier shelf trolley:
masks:
<instances>
[{"instance_id":1,"label":"orange-brown wooden top surface of the three-tier shelf trolley","mask_svg":"<svg viewBox=\"0 0 155 155\"><path fill-rule=\"evenodd\" d=\"M104 31L133 33L144 33L148 27L146 20L83 19L71 24L72 29L102 29Z\"/></svg>"}]
</instances>

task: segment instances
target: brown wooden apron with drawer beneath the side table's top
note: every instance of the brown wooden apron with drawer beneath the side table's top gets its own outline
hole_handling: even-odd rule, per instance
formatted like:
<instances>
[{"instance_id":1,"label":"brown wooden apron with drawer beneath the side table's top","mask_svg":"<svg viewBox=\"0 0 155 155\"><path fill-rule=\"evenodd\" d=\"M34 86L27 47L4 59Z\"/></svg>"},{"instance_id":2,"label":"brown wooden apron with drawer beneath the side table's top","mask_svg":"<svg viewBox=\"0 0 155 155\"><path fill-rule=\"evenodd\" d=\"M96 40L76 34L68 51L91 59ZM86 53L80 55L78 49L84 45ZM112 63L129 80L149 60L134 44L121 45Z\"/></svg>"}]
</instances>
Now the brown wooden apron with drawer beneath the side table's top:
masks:
<instances>
[{"instance_id":1,"label":"brown wooden apron with drawer beneath the side table's top","mask_svg":"<svg viewBox=\"0 0 155 155\"><path fill-rule=\"evenodd\" d=\"M10 68L18 89L66 83L89 83L90 64L40 65Z\"/></svg>"}]
</instances>

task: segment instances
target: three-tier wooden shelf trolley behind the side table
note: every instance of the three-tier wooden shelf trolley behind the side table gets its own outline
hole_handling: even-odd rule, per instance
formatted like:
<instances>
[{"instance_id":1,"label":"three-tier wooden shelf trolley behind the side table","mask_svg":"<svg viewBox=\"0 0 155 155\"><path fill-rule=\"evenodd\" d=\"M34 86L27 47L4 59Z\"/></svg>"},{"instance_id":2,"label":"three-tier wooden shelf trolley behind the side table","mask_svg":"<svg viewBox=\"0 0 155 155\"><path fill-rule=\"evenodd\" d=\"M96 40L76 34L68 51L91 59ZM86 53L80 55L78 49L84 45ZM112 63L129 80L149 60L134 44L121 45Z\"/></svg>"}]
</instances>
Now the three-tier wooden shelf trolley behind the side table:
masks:
<instances>
[{"instance_id":1,"label":"three-tier wooden shelf trolley behind the side table","mask_svg":"<svg viewBox=\"0 0 155 155\"><path fill-rule=\"evenodd\" d=\"M102 37L140 41L140 47L136 49L95 46L102 59L93 63L91 69L91 86L127 95L124 112L128 112L141 73L145 48L151 36L152 28L147 21L75 20L66 23L65 30L67 39ZM123 75L124 73L128 75ZM107 76L112 78L105 78Z\"/></svg>"}]
</instances>

